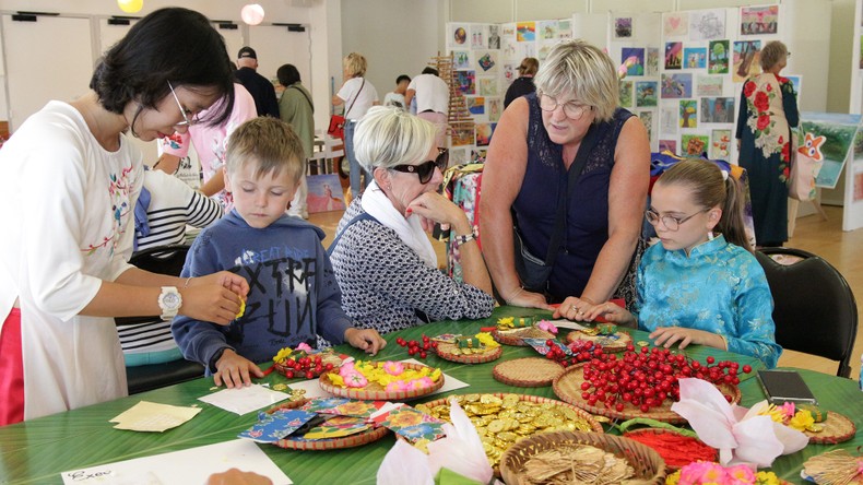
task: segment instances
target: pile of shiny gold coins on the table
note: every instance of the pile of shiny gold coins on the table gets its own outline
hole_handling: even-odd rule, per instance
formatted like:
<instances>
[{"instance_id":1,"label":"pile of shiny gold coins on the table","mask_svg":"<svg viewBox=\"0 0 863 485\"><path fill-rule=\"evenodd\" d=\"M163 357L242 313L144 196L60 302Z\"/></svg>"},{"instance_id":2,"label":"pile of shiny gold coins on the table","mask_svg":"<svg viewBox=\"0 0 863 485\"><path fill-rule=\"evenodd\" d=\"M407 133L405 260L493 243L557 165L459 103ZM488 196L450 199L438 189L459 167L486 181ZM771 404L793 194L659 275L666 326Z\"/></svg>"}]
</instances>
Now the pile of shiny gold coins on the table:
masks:
<instances>
[{"instance_id":1,"label":"pile of shiny gold coins on the table","mask_svg":"<svg viewBox=\"0 0 863 485\"><path fill-rule=\"evenodd\" d=\"M547 431L591 431L591 425L567 405L522 401L519 394L453 395L470 417L492 466L497 466L504 451L521 438ZM449 421L449 402L440 405L417 404L417 410Z\"/></svg>"}]
</instances>

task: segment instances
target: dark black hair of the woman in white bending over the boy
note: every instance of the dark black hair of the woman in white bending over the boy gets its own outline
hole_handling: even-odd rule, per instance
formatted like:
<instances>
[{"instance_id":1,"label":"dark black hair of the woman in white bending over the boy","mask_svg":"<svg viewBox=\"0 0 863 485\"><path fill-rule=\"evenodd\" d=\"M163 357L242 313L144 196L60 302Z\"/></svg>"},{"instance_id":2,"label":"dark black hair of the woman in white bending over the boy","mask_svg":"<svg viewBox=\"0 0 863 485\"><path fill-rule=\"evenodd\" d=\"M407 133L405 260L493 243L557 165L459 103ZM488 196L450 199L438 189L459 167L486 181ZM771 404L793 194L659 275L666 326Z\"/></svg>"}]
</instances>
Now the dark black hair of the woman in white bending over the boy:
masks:
<instances>
[{"instance_id":1,"label":"dark black hair of the woman in white bending over the boy","mask_svg":"<svg viewBox=\"0 0 863 485\"><path fill-rule=\"evenodd\" d=\"M169 94L168 82L215 90L218 108L204 122L222 123L234 108L234 64L225 40L202 14L182 8L159 9L137 22L99 61L91 87L99 103L120 114L129 102L155 108Z\"/></svg>"}]
</instances>

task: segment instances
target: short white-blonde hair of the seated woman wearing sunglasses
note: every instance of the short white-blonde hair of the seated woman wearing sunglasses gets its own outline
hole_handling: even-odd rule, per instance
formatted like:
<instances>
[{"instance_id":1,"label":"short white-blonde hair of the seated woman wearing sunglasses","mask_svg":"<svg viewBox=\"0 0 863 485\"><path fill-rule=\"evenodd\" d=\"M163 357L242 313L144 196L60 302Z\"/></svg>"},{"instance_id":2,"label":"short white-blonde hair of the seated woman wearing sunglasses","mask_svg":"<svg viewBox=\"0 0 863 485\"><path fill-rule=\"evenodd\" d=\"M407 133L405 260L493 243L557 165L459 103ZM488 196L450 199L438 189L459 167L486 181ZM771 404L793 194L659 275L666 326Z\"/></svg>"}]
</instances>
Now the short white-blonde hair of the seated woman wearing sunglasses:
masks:
<instances>
[{"instance_id":1,"label":"short white-blonde hair of the seated woman wearing sunglasses","mask_svg":"<svg viewBox=\"0 0 863 485\"><path fill-rule=\"evenodd\" d=\"M373 106L357 123L354 153L368 173L425 162L436 133L435 125L400 108Z\"/></svg>"}]
</instances>

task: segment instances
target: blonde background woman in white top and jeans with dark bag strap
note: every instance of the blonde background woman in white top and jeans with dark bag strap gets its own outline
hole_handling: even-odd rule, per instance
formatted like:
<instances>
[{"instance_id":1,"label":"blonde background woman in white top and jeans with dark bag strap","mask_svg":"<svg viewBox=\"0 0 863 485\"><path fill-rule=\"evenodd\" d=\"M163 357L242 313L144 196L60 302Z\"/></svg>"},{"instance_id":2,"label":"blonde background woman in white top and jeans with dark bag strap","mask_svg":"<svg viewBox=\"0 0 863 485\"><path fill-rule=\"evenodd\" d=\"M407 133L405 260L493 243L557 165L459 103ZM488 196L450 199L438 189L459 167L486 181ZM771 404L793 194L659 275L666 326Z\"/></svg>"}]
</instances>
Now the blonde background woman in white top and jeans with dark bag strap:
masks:
<instances>
[{"instance_id":1,"label":"blonde background woman in white top and jeans with dark bag strap","mask_svg":"<svg viewBox=\"0 0 863 485\"><path fill-rule=\"evenodd\" d=\"M363 187L368 187L371 182L369 174L360 174L359 164L354 154L354 130L356 122L359 121L368 111L368 108L379 105L378 92L364 76L368 63L362 54L351 52L342 59L342 73L344 83L338 93L332 97L333 106L345 105L344 110L344 153L351 164L351 194L359 196L360 177L365 176Z\"/></svg>"}]
</instances>

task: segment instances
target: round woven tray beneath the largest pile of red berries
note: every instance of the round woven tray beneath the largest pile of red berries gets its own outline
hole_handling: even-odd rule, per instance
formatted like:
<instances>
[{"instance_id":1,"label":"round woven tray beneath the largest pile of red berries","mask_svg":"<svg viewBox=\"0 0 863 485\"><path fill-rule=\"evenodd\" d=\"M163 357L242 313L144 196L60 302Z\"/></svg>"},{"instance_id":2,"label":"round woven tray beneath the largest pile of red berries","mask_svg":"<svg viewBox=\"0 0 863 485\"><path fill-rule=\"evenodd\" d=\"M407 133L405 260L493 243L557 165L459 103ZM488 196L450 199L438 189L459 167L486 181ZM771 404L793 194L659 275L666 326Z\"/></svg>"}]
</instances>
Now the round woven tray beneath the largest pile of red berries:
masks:
<instances>
[{"instance_id":1,"label":"round woven tray beneath the largest pile of red berries","mask_svg":"<svg viewBox=\"0 0 863 485\"><path fill-rule=\"evenodd\" d=\"M631 419L634 417L649 417L652 419L661 421L663 423L686 423L686 419L681 416L679 414L671 411L672 403L669 400L665 400L661 406L653 407L649 412L643 413L638 407L634 406L630 403L625 403L625 407L623 411L607 409L604 405L595 406L588 404L587 401L581 399L581 382L584 382L584 365L576 365L572 366L564 371L564 374L559 375L552 387L554 389L554 393L560 398L563 401L566 401L570 404L575 404L581 407L584 411L588 411L593 414L599 414L602 416L607 416L611 418L619 418L619 419ZM741 400L741 390L736 386L731 385L718 385L720 391L723 394L731 395L732 403L738 403Z\"/></svg>"}]
</instances>

